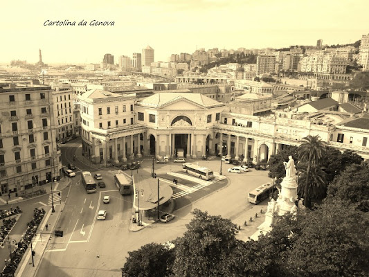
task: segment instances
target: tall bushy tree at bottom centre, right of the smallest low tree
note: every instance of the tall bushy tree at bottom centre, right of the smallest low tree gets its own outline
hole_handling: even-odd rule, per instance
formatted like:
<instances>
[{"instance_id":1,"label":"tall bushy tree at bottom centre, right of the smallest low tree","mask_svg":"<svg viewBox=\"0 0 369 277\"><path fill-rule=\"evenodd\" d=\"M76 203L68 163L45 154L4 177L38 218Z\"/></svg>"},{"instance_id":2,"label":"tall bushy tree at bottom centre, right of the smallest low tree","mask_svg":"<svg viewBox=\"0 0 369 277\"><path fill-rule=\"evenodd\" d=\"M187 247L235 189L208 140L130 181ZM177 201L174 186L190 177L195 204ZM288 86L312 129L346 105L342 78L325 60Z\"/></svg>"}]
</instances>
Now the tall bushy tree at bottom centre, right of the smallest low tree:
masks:
<instances>
[{"instance_id":1,"label":"tall bushy tree at bottom centre, right of the smallest low tree","mask_svg":"<svg viewBox=\"0 0 369 277\"><path fill-rule=\"evenodd\" d=\"M228 276L229 267L224 261L237 245L236 225L198 209L192 213L188 231L176 243L174 275Z\"/></svg>"}]
</instances>

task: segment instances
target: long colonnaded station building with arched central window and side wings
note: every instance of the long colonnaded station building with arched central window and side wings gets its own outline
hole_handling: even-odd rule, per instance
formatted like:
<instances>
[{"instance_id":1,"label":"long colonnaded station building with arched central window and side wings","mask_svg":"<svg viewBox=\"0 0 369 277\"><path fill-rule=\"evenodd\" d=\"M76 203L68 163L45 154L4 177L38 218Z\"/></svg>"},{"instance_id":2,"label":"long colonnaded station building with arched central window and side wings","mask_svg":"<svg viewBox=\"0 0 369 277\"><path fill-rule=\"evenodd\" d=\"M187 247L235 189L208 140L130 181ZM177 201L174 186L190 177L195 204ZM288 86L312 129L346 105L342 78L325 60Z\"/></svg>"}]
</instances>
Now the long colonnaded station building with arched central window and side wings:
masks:
<instances>
[{"instance_id":1,"label":"long colonnaded station building with arched central window and side wings","mask_svg":"<svg viewBox=\"0 0 369 277\"><path fill-rule=\"evenodd\" d=\"M224 103L200 93L160 92L137 102L134 95L96 89L79 98L82 150L93 163L109 165L143 156L160 159L182 155L267 162L285 145L299 145L307 135L319 135L341 151L352 149L369 158L366 146L336 143L339 130L335 125L235 114ZM361 136L366 136L365 132L357 132L356 141L364 139Z\"/></svg>"}]
</instances>

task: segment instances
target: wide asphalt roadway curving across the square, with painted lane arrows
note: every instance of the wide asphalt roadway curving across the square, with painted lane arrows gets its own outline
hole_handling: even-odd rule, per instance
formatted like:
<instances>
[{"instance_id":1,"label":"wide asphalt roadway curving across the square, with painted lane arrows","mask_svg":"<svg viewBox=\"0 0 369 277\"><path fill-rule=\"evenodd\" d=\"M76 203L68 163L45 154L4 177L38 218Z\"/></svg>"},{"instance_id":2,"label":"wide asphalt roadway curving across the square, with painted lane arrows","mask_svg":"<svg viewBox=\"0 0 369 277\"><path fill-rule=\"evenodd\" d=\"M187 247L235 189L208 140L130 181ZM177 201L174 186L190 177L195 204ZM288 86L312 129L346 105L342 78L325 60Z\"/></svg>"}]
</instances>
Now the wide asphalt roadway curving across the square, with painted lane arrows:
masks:
<instances>
[{"instance_id":1,"label":"wide asphalt roadway curving across the square, with painted lane arrows","mask_svg":"<svg viewBox=\"0 0 369 277\"><path fill-rule=\"evenodd\" d=\"M62 145L63 163L71 162L77 150L77 142L71 141ZM219 159L213 161L196 161L202 166L218 171ZM132 213L132 195L122 196L116 190L113 175L114 169L100 170L87 161L74 161L80 170L89 170L92 174L99 172L107 185L98 188L98 193L87 195L80 174L73 178L69 199L60 216L57 226L64 230L62 238L53 238L39 266L37 276L121 276L129 251L134 251L149 242L163 243L174 240L186 231L186 224L192 218L190 213L194 208L208 211L211 215L222 215L233 219L247 208L254 205L246 202L250 190L269 181L267 172L252 170L240 175L226 172L230 165L223 165L223 173L228 178L219 181L195 193L175 199L175 219L168 224L156 223L138 232L129 231L129 220ZM155 165L155 172L161 178L170 177L170 172L180 172L181 164L168 163ZM143 168L132 172L150 176L151 161L144 161ZM130 173L127 172L127 173ZM179 183L192 186L192 181L181 179ZM174 193L177 188L174 188ZM111 196L111 203L103 204L102 197ZM107 220L96 220L99 209L107 211Z\"/></svg>"}]
</instances>

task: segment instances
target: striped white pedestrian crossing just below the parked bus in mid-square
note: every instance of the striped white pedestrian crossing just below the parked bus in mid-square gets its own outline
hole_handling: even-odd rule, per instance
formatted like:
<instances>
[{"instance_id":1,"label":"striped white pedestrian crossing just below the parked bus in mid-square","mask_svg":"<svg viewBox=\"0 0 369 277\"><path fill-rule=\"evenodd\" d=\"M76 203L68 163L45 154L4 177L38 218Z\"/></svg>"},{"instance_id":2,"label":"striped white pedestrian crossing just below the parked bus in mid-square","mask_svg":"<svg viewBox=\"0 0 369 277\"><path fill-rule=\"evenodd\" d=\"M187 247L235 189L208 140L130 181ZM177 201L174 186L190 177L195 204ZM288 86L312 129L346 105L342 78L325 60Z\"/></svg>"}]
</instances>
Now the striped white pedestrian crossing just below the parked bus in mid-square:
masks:
<instances>
[{"instance_id":1,"label":"striped white pedestrian crossing just below the parked bus in mid-square","mask_svg":"<svg viewBox=\"0 0 369 277\"><path fill-rule=\"evenodd\" d=\"M190 186L185 186L183 184L177 184L177 185L176 184L171 184L170 181L168 181L170 186L175 186L176 188L181 189L181 191L179 193L174 193L174 195L172 196L173 199L178 199L180 197L189 195L190 193L195 193L195 191L197 191L197 190L201 190L203 188L206 188L207 186L210 186L211 184L214 184L217 181L220 181L220 180L226 178L224 176L219 175L219 176L211 179L210 181L205 181L205 180L201 180L201 179L196 178L196 177L192 177L192 176L177 173L177 172L167 172L167 174L172 175L173 177L177 177L177 178L181 178L181 179L187 179L188 181L193 181L195 183L198 183L196 186L190 187ZM161 181L163 181L163 179L161 179Z\"/></svg>"}]
</instances>

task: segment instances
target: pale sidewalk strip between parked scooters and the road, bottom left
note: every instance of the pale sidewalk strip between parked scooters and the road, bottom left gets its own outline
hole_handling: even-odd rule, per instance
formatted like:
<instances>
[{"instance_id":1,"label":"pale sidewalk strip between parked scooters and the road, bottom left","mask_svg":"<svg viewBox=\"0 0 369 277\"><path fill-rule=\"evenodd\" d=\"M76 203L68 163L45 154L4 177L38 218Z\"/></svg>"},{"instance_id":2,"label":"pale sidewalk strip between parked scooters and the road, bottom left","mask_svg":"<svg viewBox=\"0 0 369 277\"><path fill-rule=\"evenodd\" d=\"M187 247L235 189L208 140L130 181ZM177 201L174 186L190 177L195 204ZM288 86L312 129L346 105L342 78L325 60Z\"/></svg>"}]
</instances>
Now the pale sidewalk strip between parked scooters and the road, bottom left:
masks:
<instances>
[{"instance_id":1,"label":"pale sidewalk strip between parked scooters and the road, bottom left","mask_svg":"<svg viewBox=\"0 0 369 277\"><path fill-rule=\"evenodd\" d=\"M35 256L33 257L35 267L32 265L31 250L30 247L28 247L23 258L21 259L21 262L19 262L17 271L15 271L15 277L36 276L39 269L39 264L44 257L48 241L51 240L54 235L55 225L60 217L60 213L63 211L64 205L64 202L62 202L61 205L55 204L55 213L52 213L51 206L44 207L46 213L42 219L42 222L39 224L37 234L32 240L33 250L35 251ZM46 223L48 224L48 230L46 230Z\"/></svg>"}]
</instances>

